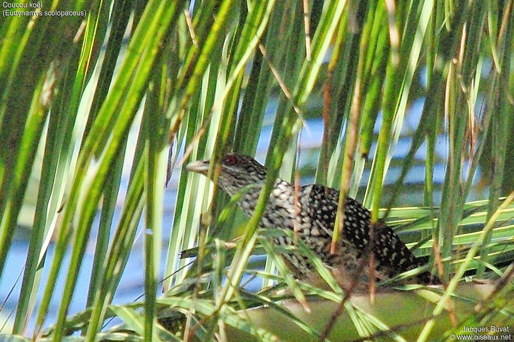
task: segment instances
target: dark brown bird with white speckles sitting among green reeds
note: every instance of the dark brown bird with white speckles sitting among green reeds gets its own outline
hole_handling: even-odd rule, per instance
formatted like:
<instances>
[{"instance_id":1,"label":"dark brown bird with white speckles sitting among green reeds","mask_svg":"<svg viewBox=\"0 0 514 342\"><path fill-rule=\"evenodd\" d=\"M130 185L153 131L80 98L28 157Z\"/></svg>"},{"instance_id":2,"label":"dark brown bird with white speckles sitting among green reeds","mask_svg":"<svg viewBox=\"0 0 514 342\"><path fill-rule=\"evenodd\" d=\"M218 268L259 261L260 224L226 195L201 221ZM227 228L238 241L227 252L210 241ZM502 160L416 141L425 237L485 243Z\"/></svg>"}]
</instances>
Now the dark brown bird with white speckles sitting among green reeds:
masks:
<instances>
[{"instance_id":1,"label":"dark brown bird with white speckles sitting among green reeds","mask_svg":"<svg viewBox=\"0 0 514 342\"><path fill-rule=\"evenodd\" d=\"M209 161L198 160L189 163L186 169L207 176L209 164ZM237 204L250 217L264 187L266 174L266 168L253 158L229 153L222 158L217 186L231 197L244 189ZM277 178L260 227L296 230L298 238L321 259L345 289L362 289L369 283L369 262L365 261L369 260L370 250L374 254L375 280L388 280L424 264L385 224L374 229L373 243L370 243L370 212L350 197L345 199L342 233L335 253L331 253L338 201L339 191L331 187L303 185L295 195L293 184ZM285 248L283 256L296 278L319 283L320 277L312 260L294 248L295 238L289 235L273 235L272 242ZM426 284L437 282L428 271L419 274L415 280Z\"/></svg>"}]
</instances>

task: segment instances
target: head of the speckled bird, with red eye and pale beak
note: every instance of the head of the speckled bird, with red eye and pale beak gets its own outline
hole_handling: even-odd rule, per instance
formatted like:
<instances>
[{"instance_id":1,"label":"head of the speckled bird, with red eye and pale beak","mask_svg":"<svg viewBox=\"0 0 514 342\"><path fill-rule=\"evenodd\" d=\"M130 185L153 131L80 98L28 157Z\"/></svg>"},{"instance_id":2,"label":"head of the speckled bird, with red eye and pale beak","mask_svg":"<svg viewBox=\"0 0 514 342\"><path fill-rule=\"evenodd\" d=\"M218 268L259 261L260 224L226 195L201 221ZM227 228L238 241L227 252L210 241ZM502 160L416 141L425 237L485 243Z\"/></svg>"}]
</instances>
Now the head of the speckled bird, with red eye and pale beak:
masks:
<instances>
[{"instance_id":1,"label":"head of the speckled bird, with red eye and pale beak","mask_svg":"<svg viewBox=\"0 0 514 342\"><path fill-rule=\"evenodd\" d=\"M209 161L189 163L186 169L207 176ZM223 157L218 176L218 186L229 196L235 195L248 185L262 186L266 180L266 168L251 157L238 153Z\"/></svg>"}]
</instances>

